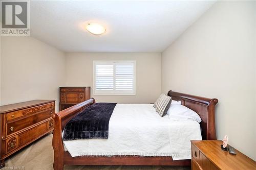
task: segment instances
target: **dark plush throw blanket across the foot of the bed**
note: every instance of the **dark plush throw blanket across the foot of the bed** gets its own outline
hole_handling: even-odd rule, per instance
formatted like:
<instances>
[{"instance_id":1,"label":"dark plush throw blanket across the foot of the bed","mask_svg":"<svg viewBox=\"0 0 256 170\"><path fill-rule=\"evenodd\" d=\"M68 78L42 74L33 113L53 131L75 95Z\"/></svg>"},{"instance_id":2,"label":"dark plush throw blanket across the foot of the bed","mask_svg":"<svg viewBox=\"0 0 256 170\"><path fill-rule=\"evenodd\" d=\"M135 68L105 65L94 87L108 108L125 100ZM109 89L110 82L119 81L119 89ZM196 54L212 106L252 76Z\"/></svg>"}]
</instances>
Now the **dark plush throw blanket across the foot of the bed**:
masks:
<instances>
[{"instance_id":1,"label":"dark plush throw blanket across the foot of the bed","mask_svg":"<svg viewBox=\"0 0 256 170\"><path fill-rule=\"evenodd\" d=\"M66 125L63 140L109 137L110 117L116 103L95 103L72 118Z\"/></svg>"}]
</instances>

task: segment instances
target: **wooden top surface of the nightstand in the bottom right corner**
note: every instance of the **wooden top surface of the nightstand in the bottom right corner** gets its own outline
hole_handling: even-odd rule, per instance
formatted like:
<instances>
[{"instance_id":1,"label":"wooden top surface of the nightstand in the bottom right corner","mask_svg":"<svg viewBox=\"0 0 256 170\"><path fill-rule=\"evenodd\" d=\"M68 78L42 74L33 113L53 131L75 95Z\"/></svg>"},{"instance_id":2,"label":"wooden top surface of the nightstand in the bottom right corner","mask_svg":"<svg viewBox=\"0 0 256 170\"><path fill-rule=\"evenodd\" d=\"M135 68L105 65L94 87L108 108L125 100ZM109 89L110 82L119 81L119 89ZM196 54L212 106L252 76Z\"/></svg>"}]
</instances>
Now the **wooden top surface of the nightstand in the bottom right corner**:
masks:
<instances>
[{"instance_id":1,"label":"wooden top surface of the nightstand in the bottom right corner","mask_svg":"<svg viewBox=\"0 0 256 170\"><path fill-rule=\"evenodd\" d=\"M221 140L191 140L220 169L256 169L256 162L235 149L237 155L221 150ZM252 146L253 147L253 146Z\"/></svg>"}]
</instances>

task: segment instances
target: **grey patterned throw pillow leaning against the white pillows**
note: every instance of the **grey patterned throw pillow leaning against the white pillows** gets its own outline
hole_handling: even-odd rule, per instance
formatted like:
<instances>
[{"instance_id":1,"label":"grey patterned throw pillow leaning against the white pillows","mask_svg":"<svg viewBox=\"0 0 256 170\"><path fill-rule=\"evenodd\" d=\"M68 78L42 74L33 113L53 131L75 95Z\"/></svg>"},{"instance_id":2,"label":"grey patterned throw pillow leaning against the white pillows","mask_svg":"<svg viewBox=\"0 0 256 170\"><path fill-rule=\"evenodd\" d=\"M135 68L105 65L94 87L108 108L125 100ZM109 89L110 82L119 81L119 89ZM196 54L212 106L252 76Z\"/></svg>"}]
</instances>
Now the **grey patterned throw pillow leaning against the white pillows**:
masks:
<instances>
[{"instance_id":1,"label":"grey patterned throw pillow leaning against the white pillows","mask_svg":"<svg viewBox=\"0 0 256 170\"><path fill-rule=\"evenodd\" d=\"M163 117L167 113L170 107L170 103L172 103L172 97L165 94L160 96L160 99L156 104L156 111L161 117Z\"/></svg>"}]
</instances>

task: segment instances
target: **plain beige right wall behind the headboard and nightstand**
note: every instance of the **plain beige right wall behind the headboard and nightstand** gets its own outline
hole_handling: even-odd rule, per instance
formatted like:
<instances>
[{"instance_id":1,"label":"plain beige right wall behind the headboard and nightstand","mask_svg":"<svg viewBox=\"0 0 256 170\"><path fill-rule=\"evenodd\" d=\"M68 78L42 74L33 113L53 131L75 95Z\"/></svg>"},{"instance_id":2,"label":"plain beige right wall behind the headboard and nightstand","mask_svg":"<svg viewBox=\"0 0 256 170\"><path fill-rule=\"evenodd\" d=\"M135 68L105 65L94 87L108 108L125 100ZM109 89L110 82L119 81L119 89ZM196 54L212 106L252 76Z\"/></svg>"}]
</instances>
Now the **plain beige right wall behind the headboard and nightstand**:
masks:
<instances>
[{"instance_id":1,"label":"plain beige right wall behind the headboard and nightstand","mask_svg":"<svg viewBox=\"0 0 256 170\"><path fill-rule=\"evenodd\" d=\"M162 91L218 98L217 137L256 160L256 2L217 2L162 53Z\"/></svg>"}]
</instances>

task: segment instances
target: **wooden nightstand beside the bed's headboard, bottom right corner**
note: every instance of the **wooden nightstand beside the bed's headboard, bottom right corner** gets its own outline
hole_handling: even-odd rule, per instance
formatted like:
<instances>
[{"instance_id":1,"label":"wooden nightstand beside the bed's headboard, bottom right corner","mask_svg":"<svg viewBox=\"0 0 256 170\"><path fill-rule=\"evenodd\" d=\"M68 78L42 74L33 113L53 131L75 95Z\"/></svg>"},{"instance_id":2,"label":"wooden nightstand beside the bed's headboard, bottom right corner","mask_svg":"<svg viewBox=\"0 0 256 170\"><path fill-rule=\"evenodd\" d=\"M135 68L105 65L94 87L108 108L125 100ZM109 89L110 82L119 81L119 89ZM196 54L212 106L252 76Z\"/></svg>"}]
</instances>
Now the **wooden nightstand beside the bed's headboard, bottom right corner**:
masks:
<instances>
[{"instance_id":1,"label":"wooden nightstand beside the bed's headboard, bottom right corner","mask_svg":"<svg viewBox=\"0 0 256 170\"><path fill-rule=\"evenodd\" d=\"M256 162L238 150L237 155L222 151L221 140L191 140L192 170L239 170L256 169ZM252 146L253 147L253 146Z\"/></svg>"}]
</instances>

